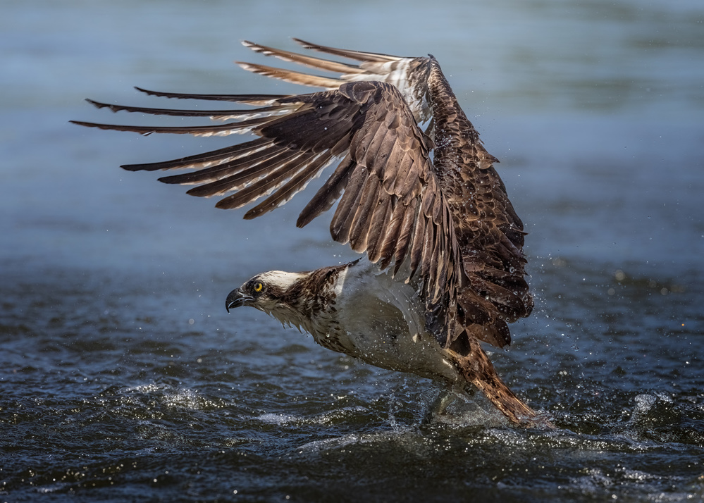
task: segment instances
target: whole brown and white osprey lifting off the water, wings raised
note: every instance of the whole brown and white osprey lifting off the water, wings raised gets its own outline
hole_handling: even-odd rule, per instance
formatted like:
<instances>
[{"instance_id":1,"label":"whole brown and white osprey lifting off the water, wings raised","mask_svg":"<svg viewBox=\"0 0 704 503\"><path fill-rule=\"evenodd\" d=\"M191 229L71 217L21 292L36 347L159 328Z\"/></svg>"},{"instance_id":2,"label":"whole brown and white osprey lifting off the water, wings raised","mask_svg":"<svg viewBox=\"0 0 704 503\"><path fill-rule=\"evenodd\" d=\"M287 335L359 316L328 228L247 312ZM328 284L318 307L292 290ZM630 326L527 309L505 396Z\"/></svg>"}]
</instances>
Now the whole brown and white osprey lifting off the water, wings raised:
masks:
<instances>
[{"instance_id":1,"label":"whole brown and white osprey lifting off the water, wings raised","mask_svg":"<svg viewBox=\"0 0 704 503\"><path fill-rule=\"evenodd\" d=\"M509 344L507 323L533 309L524 277L525 232L493 167L497 159L484 149L438 61L295 41L357 63L243 42L260 54L335 75L238 63L254 73L323 90L230 95L137 88L158 97L235 101L256 108L175 110L87 100L114 112L209 117L223 123L140 127L74 122L144 135L254 135L251 141L204 154L122 166L130 171L194 169L159 180L195 185L187 192L195 196L225 196L216 204L222 209L264 197L245 213L247 219L285 204L337 163L297 226L339 201L331 235L366 257L304 273L261 273L230 292L228 311L252 306L307 331L335 352L445 383L434 414L445 410L452 392L470 392L474 385L512 423L546 424L502 382L480 345Z\"/></svg>"}]
</instances>

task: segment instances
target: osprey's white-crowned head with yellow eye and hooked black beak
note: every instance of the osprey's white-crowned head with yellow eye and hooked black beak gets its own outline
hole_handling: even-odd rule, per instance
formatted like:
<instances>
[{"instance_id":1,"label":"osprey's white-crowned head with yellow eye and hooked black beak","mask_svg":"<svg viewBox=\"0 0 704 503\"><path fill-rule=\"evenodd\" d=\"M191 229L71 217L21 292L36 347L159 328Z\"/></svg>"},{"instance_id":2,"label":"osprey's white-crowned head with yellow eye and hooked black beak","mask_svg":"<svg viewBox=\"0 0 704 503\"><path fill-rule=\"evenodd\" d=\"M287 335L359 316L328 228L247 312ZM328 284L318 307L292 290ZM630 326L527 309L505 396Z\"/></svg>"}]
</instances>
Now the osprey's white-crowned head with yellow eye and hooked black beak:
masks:
<instances>
[{"instance_id":1,"label":"osprey's white-crowned head with yellow eye and hooked black beak","mask_svg":"<svg viewBox=\"0 0 704 503\"><path fill-rule=\"evenodd\" d=\"M235 288L225 301L225 308L252 306L271 314L279 321L290 322L295 311L296 287L306 273L268 271L257 274L239 288Z\"/></svg>"}]
</instances>

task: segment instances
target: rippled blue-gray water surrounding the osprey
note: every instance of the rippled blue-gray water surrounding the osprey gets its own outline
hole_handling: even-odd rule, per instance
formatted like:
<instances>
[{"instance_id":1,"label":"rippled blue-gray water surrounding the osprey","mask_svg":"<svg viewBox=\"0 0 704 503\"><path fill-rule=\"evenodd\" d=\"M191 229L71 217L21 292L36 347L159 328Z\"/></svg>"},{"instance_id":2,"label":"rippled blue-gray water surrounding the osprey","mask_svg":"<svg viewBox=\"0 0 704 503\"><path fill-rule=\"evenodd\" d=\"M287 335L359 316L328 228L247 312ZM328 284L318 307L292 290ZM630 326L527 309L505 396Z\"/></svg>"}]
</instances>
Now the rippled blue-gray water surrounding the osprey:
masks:
<instances>
[{"instance_id":1,"label":"rippled blue-gray water surrounding the osprey","mask_svg":"<svg viewBox=\"0 0 704 503\"><path fill-rule=\"evenodd\" d=\"M557 430L421 426L428 381L228 316L354 255L305 194L242 221L118 168L228 139L68 124L168 123L82 101L176 104L132 85L304 91L231 63L291 36L438 58L530 232L493 360ZM2 2L0 54L1 501L704 499L700 1Z\"/></svg>"}]
</instances>

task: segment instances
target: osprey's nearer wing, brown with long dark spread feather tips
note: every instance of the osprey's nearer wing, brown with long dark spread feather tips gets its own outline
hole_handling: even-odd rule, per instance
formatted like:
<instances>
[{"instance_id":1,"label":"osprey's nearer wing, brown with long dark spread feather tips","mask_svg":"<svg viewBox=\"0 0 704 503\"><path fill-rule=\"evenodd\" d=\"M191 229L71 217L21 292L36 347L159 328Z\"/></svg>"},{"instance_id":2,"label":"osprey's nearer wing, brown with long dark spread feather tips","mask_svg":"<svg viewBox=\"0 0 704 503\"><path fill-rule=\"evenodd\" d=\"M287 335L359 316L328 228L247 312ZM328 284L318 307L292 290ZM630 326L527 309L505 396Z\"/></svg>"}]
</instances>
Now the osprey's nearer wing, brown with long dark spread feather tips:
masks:
<instances>
[{"instance_id":1,"label":"osprey's nearer wing, brown with long dark spread feather tips","mask_svg":"<svg viewBox=\"0 0 704 503\"><path fill-rule=\"evenodd\" d=\"M278 97L264 108L223 115L237 120L172 128L78 124L143 134L257 135L250 142L205 154L123 166L128 170L197 168L159 180L197 185L188 191L196 196L225 196L218 208L239 208L264 197L245 218L284 204L328 164L342 159L304 208L297 225L306 225L340 199L331 221L333 239L366 251L381 268L395 264L395 272L402 271L408 280L419 273L428 306L437 304L441 293L454 294L461 274L452 216L433 172L426 138L396 87L349 82L334 91ZM446 309L441 309L443 316Z\"/></svg>"}]
</instances>

